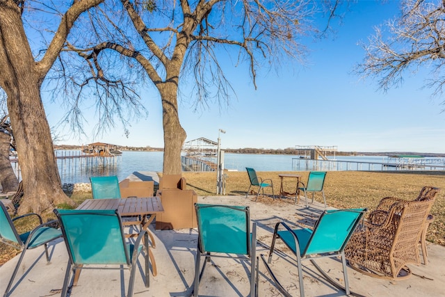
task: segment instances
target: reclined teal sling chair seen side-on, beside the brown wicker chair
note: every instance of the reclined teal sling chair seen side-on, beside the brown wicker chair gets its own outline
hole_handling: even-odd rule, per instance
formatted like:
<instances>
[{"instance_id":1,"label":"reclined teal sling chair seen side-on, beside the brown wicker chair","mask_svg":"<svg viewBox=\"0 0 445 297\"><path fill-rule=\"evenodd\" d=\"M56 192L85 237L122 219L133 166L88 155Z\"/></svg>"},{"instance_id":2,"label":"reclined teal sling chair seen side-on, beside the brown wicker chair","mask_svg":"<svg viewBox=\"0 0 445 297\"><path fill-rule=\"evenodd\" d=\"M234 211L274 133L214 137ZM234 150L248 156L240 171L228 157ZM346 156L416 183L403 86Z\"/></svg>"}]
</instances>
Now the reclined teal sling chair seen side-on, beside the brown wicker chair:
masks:
<instances>
[{"instance_id":1,"label":"reclined teal sling chair seen side-on, beside the brown wicker chair","mask_svg":"<svg viewBox=\"0 0 445 297\"><path fill-rule=\"evenodd\" d=\"M346 271L346 258L344 248L348 243L351 234L353 234L355 227L359 223L366 209L339 209L339 210L325 210L321 214L315 223L314 230L300 227L300 229L292 230L286 223L280 222L275 225L273 232L272 244L270 245L270 252L268 261L261 255L264 264L268 272L270 273L273 281L277 285L277 288L282 292L284 296L291 296L289 292L282 287L276 276L273 274L270 266L273 250L275 248L275 241L282 239L282 241L288 246L288 248L296 255L298 266L298 280L300 282L300 296L305 296L305 289L303 286L302 275L302 261L311 260L315 268L326 278L328 282L333 284L339 289L346 291L346 294L350 294L348 283L348 272ZM279 231L279 227L282 225L285 230ZM315 259L320 257L339 257L341 256L341 263L343 265L343 275L345 287L330 278L318 264Z\"/></svg>"}]
</instances>

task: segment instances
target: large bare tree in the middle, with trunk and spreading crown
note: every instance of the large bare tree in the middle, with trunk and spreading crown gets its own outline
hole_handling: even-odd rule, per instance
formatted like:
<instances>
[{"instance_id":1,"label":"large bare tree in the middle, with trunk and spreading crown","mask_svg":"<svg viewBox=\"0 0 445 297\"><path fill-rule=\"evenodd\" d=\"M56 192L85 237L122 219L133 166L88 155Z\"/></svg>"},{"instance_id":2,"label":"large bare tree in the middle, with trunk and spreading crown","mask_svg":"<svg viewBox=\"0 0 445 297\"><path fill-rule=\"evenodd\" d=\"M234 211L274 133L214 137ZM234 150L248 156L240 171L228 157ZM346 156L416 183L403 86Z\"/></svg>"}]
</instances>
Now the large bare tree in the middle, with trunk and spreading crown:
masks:
<instances>
[{"instance_id":1,"label":"large bare tree in the middle, with trunk and spreading crown","mask_svg":"<svg viewBox=\"0 0 445 297\"><path fill-rule=\"evenodd\" d=\"M247 65L256 87L257 68L277 65L283 55L300 58L305 48L299 38L316 32L314 13L323 10L332 17L338 4L311 0L105 1L104 6L90 11L88 31L94 35L88 45L82 45L85 40L74 35L67 44L67 50L85 59L91 73L74 86L81 93L93 78L115 80L115 71L108 72L110 61L120 61L119 70L127 65L126 70L139 81L151 81L163 108L163 172L179 174L181 146L186 139L179 122L181 86L194 86L190 96L197 104L224 104L233 94L224 72L227 56L238 65ZM72 61L72 56L66 61ZM70 63L62 59L59 73L66 72ZM73 86L71 81L67 83ZM76 97L75 106L78 104Z\"/></svg>"}]
</instances>

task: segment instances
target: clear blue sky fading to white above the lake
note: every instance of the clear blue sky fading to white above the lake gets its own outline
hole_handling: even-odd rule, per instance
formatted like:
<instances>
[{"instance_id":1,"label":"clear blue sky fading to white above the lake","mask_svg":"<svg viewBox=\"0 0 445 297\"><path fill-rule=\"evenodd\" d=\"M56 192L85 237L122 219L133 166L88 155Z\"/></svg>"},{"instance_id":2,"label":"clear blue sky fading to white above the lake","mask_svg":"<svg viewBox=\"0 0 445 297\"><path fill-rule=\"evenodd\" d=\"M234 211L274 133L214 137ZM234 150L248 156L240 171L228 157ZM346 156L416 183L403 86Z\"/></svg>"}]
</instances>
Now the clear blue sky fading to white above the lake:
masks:
<instances>
[{"instance_id":1,"label":"clear blue sky fading to white above the lake","mask_svg":"<svg viewBox=\"0 0 445 297\"><path fill-rule=\"evenodd\" d=\"M196 112L186 98L179 103L186 141L200 137L216 141L218 129L224 129L227 133L220 136L223 148L337 145L345 152L445 153L445 113L441 113L444 106L440 105L444 99L431 99L431 90L422 90L427 71L405 73L403 85L387 93L379 91L375 81L360 81L352 74L353 67L364 58L359 40L366 41L373 26L396 15L397 4L355 3L342 23L336 23L335 35L305 42L309 49L305 66L285 61L277 71L260 69L257 90L246 67L229 68L227 77L237 97L227 108L213 104ZM128 138L121 127L116 127L97 138L92 134L80 139L64 136L57 144L104 141L163 147L159 94L149 89L142 97L148 118L131 122ZM45 106L49 124L54 127L63 110L58 104ZM63 130L57 133L67 135Z\"/></svg>"}]
</instances>

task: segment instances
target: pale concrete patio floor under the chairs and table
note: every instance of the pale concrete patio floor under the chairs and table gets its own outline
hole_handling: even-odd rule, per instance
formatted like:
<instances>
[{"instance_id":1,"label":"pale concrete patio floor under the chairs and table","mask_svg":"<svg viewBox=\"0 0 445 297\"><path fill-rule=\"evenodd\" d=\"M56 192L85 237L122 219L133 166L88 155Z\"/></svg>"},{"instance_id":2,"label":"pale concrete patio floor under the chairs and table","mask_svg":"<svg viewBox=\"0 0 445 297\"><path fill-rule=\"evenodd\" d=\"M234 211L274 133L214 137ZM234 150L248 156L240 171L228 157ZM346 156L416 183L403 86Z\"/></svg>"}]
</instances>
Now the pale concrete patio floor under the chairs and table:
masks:
<instances>
[{"instance_id":1,"label":"pale concrete patio floor under the chairs and table","mask_svg":"<svg viewBox=\"0 0 445 297\"><path fill-rule=\"evenodd\" d=\"M291 200L259 198L253 196L200 197L200 203L248 205L252 221L257 223L257 255L268 255L268 246L275 223L286 220L289 224L306 223L311 225L324 209L321 204L293 204ZM154 230L156 239L153 249L156 257L158 275L150 275L150 286L144 285L141 269L143 257L136 271L134 296L191 296L195 271L195 251L197 230ZM273 255L273 271L289 290L292 296L299 296L298 274L294 260L283 251L284 246L277 246L280 252ZM22 267L15 279L10 296L59 296L63 285L67 265L67 250L62 240L51 243L51 263L44 258L44 249L28 250ZM428 243L428 266L409 265L414 275L407 280L389 281L371 278L348 267L351 291L362 296L445 296L445 248ZM19 256L0 267L0 293L8 284L13 268ZM341 263L334 259L318 260L332 278L343 282ZM303 275L306 296L344 296L342 291L325 282L310 262L304 262ZM199 296L248 296L248 263L236 259L213 258L200 284ZM70 296L125 296L129 271L118 270L83 270L78 285L72 288ZM18 284L17 284L18 282ZM274 287L270 275L259 259L259 296L281 296Z\"/></svg>"}]
</instances>

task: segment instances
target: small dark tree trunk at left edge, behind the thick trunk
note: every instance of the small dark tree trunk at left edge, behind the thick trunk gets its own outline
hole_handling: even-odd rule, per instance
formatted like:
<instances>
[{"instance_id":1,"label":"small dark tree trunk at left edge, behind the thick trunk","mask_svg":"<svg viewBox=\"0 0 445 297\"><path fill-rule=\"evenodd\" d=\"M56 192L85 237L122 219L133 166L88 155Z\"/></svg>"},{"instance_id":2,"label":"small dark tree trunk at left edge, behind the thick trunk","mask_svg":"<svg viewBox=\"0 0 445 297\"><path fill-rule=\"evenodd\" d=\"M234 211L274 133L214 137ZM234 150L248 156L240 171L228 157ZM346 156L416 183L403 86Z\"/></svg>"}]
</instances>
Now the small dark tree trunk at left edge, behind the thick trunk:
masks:
<instances>
[{"instance_id":1,"label":"small dark tree trunk at left edge, behind the thick trunk","mask_svg":"<svg viewBox=\"0 0 445 297\"><path fill-rule=\"evenodd\" d=\"M3 192L17 191L19 181L9 160L10 136L0 132L0 184Z\"/></svg>"}]
</instances>

